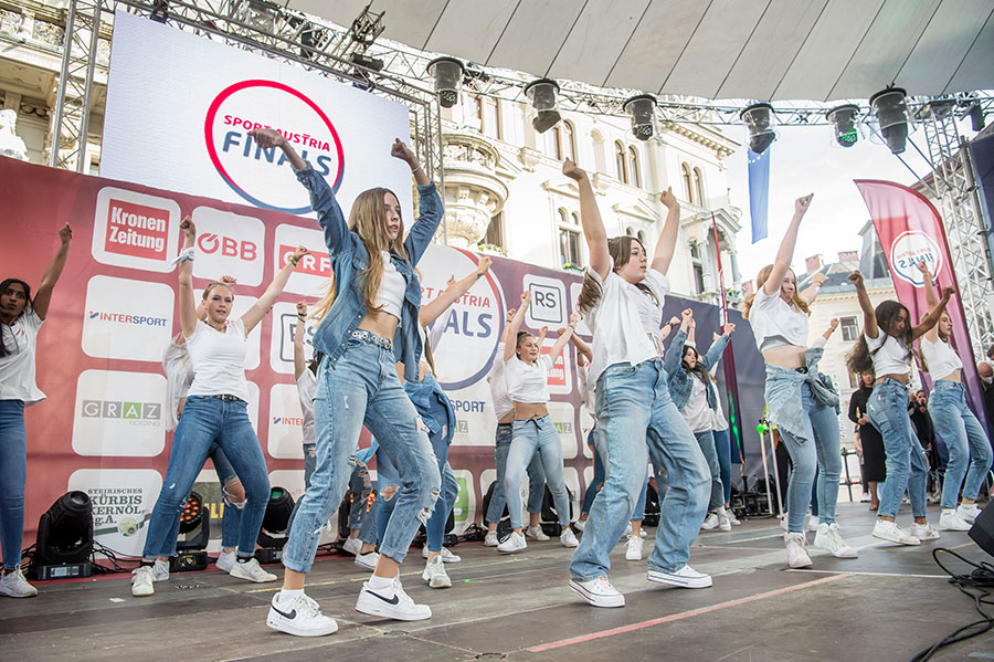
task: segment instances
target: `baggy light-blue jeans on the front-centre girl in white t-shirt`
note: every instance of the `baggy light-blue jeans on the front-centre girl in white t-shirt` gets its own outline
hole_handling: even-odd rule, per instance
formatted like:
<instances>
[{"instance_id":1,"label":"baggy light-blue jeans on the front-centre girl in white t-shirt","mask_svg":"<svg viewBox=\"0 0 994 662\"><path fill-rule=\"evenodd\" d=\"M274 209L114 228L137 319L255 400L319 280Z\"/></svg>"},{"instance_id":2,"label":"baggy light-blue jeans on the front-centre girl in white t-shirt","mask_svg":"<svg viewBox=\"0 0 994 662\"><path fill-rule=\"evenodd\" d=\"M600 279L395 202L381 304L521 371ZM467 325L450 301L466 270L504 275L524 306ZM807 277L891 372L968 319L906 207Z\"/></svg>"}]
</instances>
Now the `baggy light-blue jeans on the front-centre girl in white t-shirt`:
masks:
<instances>
[{"instance_id":1,"label":"baggy light-blue jeans on the front-centre girl in white t-shirt","mask_svg":"<svg viewBox=\"0 0 994 662\"><path fill-rule=\"evenodd\" d=\"M669 572L690 559L690 545L707 515L710 472L669 397L667 382L660 359L637 366L615 364L598 379L598 425L607 434L607 479L570 563L573 579L595 579L611 568L607 555L621 539L645 485L646 445L653 467L669 473L648 565Z\"/></svg>"}]
</instances>

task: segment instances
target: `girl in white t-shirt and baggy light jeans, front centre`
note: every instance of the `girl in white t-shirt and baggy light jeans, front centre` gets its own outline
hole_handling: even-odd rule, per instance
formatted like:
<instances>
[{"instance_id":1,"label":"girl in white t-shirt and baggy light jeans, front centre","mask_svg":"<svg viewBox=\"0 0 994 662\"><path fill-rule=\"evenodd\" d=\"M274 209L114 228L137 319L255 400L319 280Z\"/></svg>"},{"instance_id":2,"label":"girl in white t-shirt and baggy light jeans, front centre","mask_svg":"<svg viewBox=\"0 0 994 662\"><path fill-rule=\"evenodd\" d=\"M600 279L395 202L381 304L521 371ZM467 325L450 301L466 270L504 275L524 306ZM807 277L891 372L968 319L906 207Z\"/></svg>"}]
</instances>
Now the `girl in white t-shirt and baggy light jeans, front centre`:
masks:
<instances>
[{"instance_id":1,"label":"girl in white t-shirt and baggy light jeans, front centre","mask_svg":"<svg viewBox=\"0 0 994 662\"><path fill-rule=\"evenodd\" d=\"M658 328L669 292L680 206L667 189L660 202L666 224L649 262L637 239L607 239L590 178L572 160L562 172L577 181L580 219L590 266L580 292L580 312L593 330L590 380L595 386L598 425L606 433L607 479L590 508L583 540L570 563L570 588L594 607L623 607L625 598L607 580L610 551L617 545L645 484L648 445L656 472L669 473L660 503L656 544L647 578L684 588L711 586L687 561L707 513L709 472L700 446L669 396Z\"/></svg>"}]
</instances>

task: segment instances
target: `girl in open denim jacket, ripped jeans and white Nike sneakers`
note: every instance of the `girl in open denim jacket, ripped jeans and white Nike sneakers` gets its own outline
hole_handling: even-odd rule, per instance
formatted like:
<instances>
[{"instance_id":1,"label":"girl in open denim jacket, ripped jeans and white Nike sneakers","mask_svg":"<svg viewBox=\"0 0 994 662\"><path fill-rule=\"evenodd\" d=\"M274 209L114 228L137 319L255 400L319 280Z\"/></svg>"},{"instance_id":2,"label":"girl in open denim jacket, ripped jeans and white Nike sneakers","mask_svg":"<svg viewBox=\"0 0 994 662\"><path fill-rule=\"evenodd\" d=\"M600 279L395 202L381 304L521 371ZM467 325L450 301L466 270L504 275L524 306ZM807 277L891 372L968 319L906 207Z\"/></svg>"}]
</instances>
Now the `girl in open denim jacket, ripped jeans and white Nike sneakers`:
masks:
<instances>
[{"instance_id":1,"label":"girl in open denim jacket, ripped jeans and white Nike sneakers","mask_svg":"<svg viewBox=\"0 0 994 662\"><path fill-rule=\"evenodd\" d=\"M314 316L318 353L314 398L317 466L304 494L283 557L283 590L273 597L266 624L299 637L330 634L338 624L321 614L304 593L320 529L338 507L348 486L359 433L364 424L381 450L400 470L403 490L393 517L380 538L380 557L356 601L362 613L400 620L431 618L415 605L398 577L420 524L427 522L442 477L417 412L396 375L416 380L422 341L417 334L421 284L414 265L424 254L442 220L442 200L417 158L400 139L391 156L404 161L417 183L421 216L406 240L400 202L387 189L359 193L349 222L328 182L273 129L250 132L263 149L278 147L297 179L310 192L331 259L334 277Z\"/></svg>"}]
</instances>

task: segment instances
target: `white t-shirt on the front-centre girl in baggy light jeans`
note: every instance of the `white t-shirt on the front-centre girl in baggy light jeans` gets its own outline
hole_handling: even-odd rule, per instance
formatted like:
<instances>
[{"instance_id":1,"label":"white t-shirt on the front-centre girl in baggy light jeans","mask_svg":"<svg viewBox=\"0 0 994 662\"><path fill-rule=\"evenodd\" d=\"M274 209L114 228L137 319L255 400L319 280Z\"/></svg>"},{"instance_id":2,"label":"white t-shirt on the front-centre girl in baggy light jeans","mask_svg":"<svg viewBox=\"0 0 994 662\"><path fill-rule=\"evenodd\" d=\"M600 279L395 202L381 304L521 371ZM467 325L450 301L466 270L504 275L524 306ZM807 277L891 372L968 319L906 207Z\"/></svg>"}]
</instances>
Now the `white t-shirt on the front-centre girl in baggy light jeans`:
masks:
<instances>
[{"instance_id":1,"label":"white t-shirt on the front-centre girl in baggy light jeans","mask_svg":"<svg viewBox=\"0 0 994 662\"><path fill-rule=\"evenodd\" d=\"M607 366L637 366L663 355L659 321L663 318L663 302L669 294L669 281L652 267L645 270L641 284L652 290L657 302L617 275L613 261L605 279L590 267L586 273L601 284L601 301L586 314L586 324L593 332L594 355L588 379L595 386Z\"/></svg>"}]
</instances>

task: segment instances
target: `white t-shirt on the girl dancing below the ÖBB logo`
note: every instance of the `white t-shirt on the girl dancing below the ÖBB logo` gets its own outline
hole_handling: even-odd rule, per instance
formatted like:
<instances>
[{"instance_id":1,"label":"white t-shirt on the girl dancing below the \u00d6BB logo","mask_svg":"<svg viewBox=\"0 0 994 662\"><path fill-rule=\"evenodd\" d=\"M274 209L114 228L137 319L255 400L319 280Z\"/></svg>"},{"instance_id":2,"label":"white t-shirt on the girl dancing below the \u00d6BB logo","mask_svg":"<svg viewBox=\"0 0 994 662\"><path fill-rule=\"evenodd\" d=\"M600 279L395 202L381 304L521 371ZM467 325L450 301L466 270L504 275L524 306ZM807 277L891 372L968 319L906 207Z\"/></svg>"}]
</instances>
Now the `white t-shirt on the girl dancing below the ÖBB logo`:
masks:
<instances>
[{"instance_id":1,"label":"white t-shirt on the girl dancing below the \u00d6BB logo","mask_svg":"<svg viewBox=\"0 0 994 662\"><path fill-rule=\"evenodd\" d=\"M222 334L205 322L197 321L187 338L187 351L193 362L190 396L234 396L248 401L245 381L245 325L241 318L229 321Z\"/></svg>"}]
</instances>

